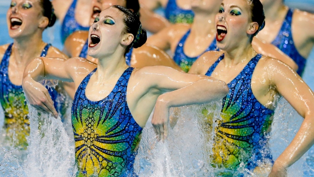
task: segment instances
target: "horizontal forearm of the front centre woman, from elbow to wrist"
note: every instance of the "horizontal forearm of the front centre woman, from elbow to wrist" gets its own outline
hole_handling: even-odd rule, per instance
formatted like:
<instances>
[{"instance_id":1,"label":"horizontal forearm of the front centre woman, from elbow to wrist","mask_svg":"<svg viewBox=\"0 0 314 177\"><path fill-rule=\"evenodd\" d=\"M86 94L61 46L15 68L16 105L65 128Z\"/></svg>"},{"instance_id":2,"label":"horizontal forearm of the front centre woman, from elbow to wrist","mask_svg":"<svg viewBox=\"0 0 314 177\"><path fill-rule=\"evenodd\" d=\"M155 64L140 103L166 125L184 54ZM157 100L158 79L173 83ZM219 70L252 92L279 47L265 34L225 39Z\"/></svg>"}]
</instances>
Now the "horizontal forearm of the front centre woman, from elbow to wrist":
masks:
<instances>
[{"instance_id":1,"label":"horizontal forearm of the front centre woman, from elbow to wrist","mask_svg":"<svg viewBox=\"0 0 314 177\"><path fill-rule=\"evenodd\" d=\"M158 101L165 103L168 108L204 104L221 99L228 91L228 86L223 81L201 79L181 89L160 95Z\"/></svg>"}]
</instances>

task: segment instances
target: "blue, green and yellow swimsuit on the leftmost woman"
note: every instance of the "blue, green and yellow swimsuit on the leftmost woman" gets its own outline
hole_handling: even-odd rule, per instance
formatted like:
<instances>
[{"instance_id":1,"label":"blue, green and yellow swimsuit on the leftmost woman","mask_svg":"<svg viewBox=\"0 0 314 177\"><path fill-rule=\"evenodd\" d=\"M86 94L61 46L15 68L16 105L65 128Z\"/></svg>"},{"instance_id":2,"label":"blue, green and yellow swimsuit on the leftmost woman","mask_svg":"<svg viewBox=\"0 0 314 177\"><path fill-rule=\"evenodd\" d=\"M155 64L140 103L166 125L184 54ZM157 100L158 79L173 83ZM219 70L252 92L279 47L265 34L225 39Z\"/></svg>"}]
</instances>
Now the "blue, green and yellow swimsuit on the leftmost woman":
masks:
<instances>
[{"instance_id":1,"label":"blue, green and yellow swimsuit on the leftmost woman","mask_svg":"<svg viewBox=\"0 0 314 177\"><path fill-rule=\"evenodd\" d=\"M8 137L12 138L15 133L17 139L15 145L25 148L27 146L25 137L29 135L28 107L22 86L14 85L9 79L8 68L12 46L13 43L9 45L0 64L0 102L5 113L4 126ZM42 57L47 55L50 46L50 44L46 45L42 51ZM49 93L56 106L57 91L49 89Z\"/></svg>"}]
</instances>

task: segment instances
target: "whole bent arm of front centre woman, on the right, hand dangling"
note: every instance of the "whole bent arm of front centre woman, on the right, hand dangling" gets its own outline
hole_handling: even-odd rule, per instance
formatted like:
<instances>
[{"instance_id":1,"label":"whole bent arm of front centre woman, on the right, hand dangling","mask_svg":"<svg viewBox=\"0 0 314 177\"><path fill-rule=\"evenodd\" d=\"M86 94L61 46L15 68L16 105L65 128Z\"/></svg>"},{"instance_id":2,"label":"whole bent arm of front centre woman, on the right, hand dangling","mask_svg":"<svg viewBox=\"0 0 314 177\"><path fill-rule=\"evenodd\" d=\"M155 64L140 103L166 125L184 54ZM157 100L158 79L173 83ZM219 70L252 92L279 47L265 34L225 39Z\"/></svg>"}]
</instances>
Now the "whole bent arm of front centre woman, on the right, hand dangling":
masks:
<instances>
[{"instance_id":1,"label":"whole bent arm of front centre woman, on the right, hand dangling","mask_svg":"<svg viewBox=\"0 0 314 177\"><path fill-rule=\"evenodd\" d=\"M147 84L159 95L151 123L162 139L168 135L170 107L208 103L224 97L229 91L223 81L215 78L181 73L163 66L145 67L142 72L145 73L145 69L150 72Z\"/></svg>"}]
</instances>

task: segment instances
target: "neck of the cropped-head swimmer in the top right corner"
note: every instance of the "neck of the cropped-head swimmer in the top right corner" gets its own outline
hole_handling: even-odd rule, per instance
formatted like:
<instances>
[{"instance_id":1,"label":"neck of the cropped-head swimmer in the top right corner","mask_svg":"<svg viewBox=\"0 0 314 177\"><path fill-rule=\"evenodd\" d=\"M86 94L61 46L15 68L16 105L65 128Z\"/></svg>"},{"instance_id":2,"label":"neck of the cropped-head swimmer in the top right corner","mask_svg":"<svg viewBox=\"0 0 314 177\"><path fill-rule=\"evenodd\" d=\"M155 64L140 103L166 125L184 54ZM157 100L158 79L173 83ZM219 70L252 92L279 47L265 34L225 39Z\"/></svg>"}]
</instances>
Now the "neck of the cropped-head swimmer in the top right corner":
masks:
<instances>
[{"instance_id":1,"label":"neck of the cropped-head swimmer in the top right corner","mask_svg":"<svg viewBox=\"0 0 314 177\"><path fill-rule=\"evenodd\" d=\"M273 1L270 5L264 6L265 11L265 20L267 21L276 21L281 17L282 13L285 13L287 7L282 1Z\"/></svg>"}]
</instances>

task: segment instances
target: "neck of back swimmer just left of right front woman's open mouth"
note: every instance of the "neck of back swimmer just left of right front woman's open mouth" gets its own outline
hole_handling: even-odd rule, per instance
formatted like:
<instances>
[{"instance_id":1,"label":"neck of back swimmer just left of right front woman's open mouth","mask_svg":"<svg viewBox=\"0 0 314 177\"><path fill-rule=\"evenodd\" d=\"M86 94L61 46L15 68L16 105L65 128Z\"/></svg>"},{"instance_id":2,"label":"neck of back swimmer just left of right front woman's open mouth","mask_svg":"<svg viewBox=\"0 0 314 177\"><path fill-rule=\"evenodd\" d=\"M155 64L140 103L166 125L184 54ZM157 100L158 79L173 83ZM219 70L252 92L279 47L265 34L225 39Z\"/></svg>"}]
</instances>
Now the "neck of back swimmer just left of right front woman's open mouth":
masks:
<instances>
[{"instance_id":1,"label":"neck of back swimmer just left of right front woman's open mouth","mask_svg":"<svg viewBox=\"0 0 314 177\"><path fill-rule=\"evenodd\" d=\"M191 33L201 38L215 34L215 16L215 13L195 13Z\"/></svg>"}]
</instances>

